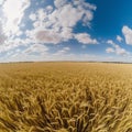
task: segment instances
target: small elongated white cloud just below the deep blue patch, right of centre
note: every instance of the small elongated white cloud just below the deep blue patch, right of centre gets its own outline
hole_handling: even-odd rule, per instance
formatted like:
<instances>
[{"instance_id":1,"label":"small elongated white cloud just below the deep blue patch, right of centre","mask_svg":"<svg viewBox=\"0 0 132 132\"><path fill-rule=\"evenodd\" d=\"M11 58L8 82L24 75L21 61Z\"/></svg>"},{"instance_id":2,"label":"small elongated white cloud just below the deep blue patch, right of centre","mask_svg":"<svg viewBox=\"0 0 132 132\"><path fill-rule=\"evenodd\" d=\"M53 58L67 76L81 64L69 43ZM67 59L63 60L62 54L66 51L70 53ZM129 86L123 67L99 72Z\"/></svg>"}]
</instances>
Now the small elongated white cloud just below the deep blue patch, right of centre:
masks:
<instances>
[{"instance_id":1,"label":"small elongated white cloud just below the deep blue patch, right of centre","mask_svg":"<svg viewBox=\"0 0 132 132\"><path fill-rule=\"evenodd\" d=\"M75 38L82 44L97 44L98 43L96 38L91 38L91 36L87 33L76 34Z\"/></svg>"}]
</instances>

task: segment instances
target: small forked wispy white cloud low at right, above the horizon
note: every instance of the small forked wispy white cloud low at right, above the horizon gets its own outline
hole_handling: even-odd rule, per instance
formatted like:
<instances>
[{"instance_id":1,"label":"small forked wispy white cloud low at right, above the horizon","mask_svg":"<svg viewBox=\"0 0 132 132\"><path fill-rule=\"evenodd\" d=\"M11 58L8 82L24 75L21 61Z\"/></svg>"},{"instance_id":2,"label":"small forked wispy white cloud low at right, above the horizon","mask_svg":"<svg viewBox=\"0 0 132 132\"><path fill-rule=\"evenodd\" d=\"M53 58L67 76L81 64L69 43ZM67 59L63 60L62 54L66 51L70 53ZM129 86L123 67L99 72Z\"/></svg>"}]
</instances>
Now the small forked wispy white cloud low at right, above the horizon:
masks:
<instances>
[{"instance_id":1,"label":"small forked wispy white cloud low at right, above the horizon","mask_svg":"<svg viewBox=\"0 0 132 132\"><path fill-rule=\"evenodd\" d=\"M116 53L117 55L122 55L122 56L128 56L128 55L130 55L130 53L129 53L127 50L120 47L120 46L119 46L118 44L116 44L113 41L108 40L107 43L112 46L112 47L108 47L108 48L106 50L107 53Z\"/></svg>"}]
</instances>

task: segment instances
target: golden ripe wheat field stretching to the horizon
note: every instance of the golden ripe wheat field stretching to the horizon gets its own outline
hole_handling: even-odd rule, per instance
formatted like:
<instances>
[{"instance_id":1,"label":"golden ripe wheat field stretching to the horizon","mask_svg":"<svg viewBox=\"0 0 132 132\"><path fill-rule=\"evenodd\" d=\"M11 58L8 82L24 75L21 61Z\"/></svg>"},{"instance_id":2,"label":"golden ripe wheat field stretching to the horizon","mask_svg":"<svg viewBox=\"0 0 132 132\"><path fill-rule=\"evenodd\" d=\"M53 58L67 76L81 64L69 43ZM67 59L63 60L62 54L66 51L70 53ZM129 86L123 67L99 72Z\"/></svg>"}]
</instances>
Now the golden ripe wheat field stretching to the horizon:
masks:
<instances>
[{"instance_id":1,"label":"golden ripe wheat field stretching to the horizon","mask_svg":"<svg viewBox=\"0 0 132 132\"><path fill-rule=\"evenodd\" d=\"M132 132L132 65L0 65L0 132Z\"/></svg>"}]
</instances>

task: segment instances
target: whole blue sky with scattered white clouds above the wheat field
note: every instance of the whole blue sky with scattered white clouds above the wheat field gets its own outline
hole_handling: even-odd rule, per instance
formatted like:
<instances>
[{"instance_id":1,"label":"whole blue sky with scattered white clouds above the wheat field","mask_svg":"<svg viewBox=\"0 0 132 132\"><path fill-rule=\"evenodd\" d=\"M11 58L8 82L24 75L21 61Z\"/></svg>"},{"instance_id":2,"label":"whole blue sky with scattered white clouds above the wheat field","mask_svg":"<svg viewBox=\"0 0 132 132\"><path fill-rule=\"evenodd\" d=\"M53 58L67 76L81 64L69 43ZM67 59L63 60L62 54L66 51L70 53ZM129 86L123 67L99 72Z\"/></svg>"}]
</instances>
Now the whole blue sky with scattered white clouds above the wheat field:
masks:
<instances>
[{"instance_id":1,"label":"whole blue sky with scattered white clouds above the wheat field","mask_svg":"<svg viewBox=\"0 0 132 132\"><path fill-rule=\"evenodd\" d=\"M131 0L0 0L0 62L132 62Z\"/></svg>"}]
</instances>

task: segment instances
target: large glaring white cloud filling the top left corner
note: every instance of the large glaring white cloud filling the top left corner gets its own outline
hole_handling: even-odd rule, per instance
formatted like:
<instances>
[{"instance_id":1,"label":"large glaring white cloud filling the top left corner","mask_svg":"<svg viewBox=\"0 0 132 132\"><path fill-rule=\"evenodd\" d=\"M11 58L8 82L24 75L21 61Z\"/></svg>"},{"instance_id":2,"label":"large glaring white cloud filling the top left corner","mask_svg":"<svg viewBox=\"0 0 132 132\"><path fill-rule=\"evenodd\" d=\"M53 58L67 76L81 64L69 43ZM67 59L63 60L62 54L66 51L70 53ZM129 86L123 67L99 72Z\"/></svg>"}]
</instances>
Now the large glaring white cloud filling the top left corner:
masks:
<instances>
[{"instance_id":1,"label":"large glaring white cloud filling the top left corner","mask_svg":"<svg viewBox=\"0 0 132 132\"><path fill-rule=\"evenodd\" d=\"M25 45L25 38L18 38L23 32L20 30L20 23L25 9L30 6L30 0L6 0L1 1L0 18L0 53L12 51L19 45ZM14 7L15 6L15 7ZM15 38L13 38L15 36Z\"/></svg>"}]
</instances>

